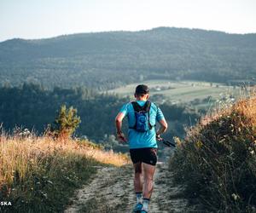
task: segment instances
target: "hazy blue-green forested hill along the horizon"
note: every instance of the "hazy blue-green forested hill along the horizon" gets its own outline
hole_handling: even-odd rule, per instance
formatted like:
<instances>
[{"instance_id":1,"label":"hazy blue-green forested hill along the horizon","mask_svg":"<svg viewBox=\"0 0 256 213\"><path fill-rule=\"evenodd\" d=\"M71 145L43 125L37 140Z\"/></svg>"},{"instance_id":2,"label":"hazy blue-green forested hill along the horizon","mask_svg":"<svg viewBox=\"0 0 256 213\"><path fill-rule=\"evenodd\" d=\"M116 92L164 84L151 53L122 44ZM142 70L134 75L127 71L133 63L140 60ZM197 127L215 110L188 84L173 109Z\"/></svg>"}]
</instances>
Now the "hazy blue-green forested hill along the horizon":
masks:
<instances>
[{"instance_id":1,"label":"hazy blue-green forested hill along the horizon","mask_svg":"<svg viewBox=\"0 0 256 213\"><path fill-rule=\"evenodd\" d=\"M159 27L0 43L0 83L106 89L138 79L227 82L256 73L256 34Z\"/></svg>"}]
</instances>

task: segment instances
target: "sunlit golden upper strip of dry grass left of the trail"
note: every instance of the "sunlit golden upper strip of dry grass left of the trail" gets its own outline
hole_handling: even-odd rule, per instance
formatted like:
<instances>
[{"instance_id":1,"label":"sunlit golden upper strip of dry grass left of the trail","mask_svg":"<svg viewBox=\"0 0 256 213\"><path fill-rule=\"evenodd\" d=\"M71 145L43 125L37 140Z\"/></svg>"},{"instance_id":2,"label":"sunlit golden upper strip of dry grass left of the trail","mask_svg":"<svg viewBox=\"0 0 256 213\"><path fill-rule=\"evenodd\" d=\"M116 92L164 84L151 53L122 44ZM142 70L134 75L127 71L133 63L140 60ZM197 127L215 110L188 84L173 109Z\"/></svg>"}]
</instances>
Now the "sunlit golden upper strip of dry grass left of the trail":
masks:
<instances>
[{"instance_id":1,"label":"sunlit golden upper strip of dry grass left of the trail","mask_svg":"<svg viewBox=\"0 0 256 213\"><path fill-rule=\"evenodd\" d=\"M44 164L44 158L63 154L73 154L94 158L102 164L121 166L128 163L128 158L123 154L103 151L92 146L90 142L83 141L55 141L50 137L6 136L0 137L0 186L8 183L10 186L16 175L20 180L25 180L31 170L38 170Z\"/></svg>"}]
</instances>

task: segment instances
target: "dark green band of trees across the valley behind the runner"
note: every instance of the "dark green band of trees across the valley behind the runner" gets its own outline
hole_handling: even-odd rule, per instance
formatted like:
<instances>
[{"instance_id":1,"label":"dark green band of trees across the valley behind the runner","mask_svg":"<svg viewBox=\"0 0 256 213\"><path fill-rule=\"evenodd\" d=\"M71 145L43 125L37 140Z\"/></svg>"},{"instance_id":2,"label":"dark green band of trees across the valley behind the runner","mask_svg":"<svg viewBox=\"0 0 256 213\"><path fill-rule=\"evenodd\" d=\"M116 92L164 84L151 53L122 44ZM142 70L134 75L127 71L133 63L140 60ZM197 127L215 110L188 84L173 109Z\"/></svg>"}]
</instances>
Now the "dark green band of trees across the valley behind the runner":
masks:
<instances>
[{"instance_id":1,"label":"dark green band of trees across the valley behind the runner","mask_svg":"<svg viewBox=\"0 0 256 213\"><path fill-rule=\"evenodd\" d=\"M113 140L109 136L115 134L114 118L127 101L130 100L115 95L102 95L82 87L55 87L49 90L38 84L24 83L20 87L0 88L0 124L3 123L5 130L22 126L40 134L48 124L53 124L57 111L65 104L78 109L81 124L76 135L108 142ZM160 108L172 126L166 134L168 139L174 135L182 137L184 125L195 124L196 118L199 118L199 114L189 107L164 104Z\"/></svg>"}]
</instances>

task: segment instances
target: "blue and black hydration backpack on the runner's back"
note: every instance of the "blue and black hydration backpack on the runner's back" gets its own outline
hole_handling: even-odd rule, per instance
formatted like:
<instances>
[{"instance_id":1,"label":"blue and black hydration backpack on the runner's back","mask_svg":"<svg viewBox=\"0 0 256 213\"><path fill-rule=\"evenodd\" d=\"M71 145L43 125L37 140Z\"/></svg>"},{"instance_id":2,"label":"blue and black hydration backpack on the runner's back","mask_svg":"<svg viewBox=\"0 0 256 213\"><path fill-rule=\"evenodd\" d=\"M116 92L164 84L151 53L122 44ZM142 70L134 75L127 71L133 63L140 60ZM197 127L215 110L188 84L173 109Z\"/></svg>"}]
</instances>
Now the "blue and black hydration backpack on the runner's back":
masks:
<instances>
[{"instance_id":1,"label":"blue and black hydration backpack on the runner's back","mask_svg":"<svg viewBox=\"0 0 256 213\"><path fill-rule=\"evenodd\" d=\"M143 107L141 107L136 101L131 102L135 112L136 123L131 129L135 129L138 132L146 132L152 129L152 125L149 122L149 110L151 103L146 101Z\"/></svg>"}]
</instances>

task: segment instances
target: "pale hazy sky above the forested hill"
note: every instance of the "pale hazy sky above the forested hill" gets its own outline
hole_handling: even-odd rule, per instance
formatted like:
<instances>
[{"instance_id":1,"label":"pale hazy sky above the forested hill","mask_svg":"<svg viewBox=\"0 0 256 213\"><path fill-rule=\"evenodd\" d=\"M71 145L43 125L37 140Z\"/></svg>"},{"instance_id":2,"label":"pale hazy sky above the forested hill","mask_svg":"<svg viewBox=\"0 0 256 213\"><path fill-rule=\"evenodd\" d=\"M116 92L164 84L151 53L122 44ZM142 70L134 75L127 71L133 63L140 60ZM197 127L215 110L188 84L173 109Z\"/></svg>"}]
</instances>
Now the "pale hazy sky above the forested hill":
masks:
<instances>
[{"instance_id":1,"label":"pale hazy sky above the forested hill","mask_svg":"<svg viewBox=\"0 0 256 213\"><path fill-rule=\"evenodd\" d=\"M256 32L256 0L0 0L0 41L157 26Z\"/></svg>"}]
</instances>

